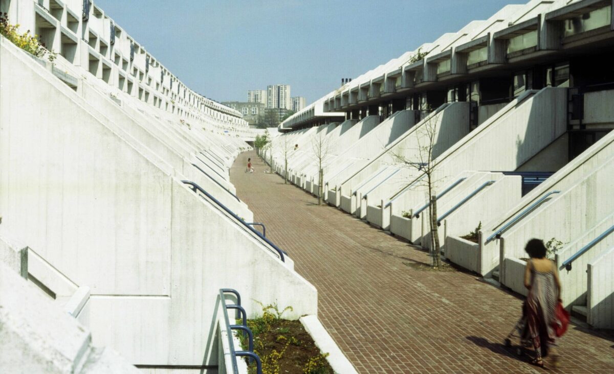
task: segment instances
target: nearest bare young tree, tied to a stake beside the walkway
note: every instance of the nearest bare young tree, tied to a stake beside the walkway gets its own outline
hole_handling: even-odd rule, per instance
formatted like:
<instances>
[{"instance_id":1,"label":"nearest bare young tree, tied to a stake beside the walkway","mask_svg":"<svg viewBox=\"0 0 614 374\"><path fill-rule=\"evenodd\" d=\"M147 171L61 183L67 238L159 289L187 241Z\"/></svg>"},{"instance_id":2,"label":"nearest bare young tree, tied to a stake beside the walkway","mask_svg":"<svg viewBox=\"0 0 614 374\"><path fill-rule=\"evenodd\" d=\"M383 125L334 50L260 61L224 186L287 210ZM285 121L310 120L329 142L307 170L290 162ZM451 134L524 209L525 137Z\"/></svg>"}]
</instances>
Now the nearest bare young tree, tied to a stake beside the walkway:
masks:
<instances>
[{"instance_id":1,"label":"nearest bare young tree, tied to a stake beside the walkway","mask_svg":"<svg viewBox=\"0 0 614 374\"><path fill-rule=\"evenodd\" d=\"M437 141L438 116L434 113L430 115L429 110L421 114L426 116L426 121L416 129L415 134L418 147L416 152L413 152L414 155L408 157L401 152L393 152L392 156L404 166L418 170L419 173L424 174L424 177L421 179L421 185L426 187L429 200L430 252L433 258L433 268L439 269L441 267L441 249L437 226L437 195L435 193L438 180L436 180L435 176L437 163L433 156L433 150Z\"/></svg>"}]
</instances>

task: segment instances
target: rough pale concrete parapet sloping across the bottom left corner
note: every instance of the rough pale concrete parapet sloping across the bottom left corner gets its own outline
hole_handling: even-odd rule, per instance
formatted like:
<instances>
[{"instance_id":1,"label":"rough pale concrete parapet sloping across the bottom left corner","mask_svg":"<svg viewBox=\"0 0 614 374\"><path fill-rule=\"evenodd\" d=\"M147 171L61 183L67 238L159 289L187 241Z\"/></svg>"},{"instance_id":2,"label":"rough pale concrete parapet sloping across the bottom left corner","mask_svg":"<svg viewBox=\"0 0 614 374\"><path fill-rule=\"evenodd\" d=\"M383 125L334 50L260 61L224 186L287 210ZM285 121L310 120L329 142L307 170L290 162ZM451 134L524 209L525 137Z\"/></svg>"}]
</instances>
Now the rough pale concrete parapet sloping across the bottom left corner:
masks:
<instances>
[{"instance_id":1,"label":"rough pale concrete parapet sloping across the bottom left corner","mask_svg":"<svg viewBox=\"0 0 614 374\"><path fill-rule=\"evenodd\" d=\"M138 373L0 261L0 362L6 373Z\"/></svg>"}]
</instances>

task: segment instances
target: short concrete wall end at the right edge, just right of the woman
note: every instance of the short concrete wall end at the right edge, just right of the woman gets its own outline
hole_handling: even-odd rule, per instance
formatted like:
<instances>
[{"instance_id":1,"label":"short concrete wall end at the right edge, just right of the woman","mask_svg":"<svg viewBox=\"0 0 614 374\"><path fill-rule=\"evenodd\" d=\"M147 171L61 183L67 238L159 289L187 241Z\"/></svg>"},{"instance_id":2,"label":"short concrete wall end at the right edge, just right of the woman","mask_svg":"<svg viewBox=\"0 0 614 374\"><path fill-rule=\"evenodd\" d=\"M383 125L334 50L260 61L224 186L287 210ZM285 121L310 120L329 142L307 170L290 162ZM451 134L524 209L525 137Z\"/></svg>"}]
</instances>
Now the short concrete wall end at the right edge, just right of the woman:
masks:
<instances>
[{"instance_id":1,"label":"short concrete wall end at the right edge, just right of the woman","mask_svg":"<svg viewBox=\"0 0 614 374\"><path fill-rule=\"evenodd\" d=\"M614 247L588 264L588 315L597 329L614 329Z\"/></svg>"}]
</instances>

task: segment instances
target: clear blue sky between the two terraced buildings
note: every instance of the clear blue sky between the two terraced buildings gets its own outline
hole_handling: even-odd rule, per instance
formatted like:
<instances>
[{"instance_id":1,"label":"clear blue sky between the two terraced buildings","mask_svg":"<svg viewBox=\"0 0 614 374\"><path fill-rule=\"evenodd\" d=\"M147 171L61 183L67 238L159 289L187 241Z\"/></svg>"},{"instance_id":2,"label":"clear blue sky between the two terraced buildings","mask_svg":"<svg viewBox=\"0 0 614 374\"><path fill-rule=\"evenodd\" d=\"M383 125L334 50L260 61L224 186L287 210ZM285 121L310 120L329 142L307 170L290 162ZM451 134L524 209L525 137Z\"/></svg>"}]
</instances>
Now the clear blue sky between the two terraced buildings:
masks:
<instances>
[{"instance_id":1,"label":"clear blue sky between the two terraced buildings","mask_svg":"<svg viewBox=\"0 0 614 374\"><path fill-rule=\"evenodd\" d=\"M186 85L217 101L289 84L307 102L528 0L95 0Z\"/></svg>"}]
</instances>

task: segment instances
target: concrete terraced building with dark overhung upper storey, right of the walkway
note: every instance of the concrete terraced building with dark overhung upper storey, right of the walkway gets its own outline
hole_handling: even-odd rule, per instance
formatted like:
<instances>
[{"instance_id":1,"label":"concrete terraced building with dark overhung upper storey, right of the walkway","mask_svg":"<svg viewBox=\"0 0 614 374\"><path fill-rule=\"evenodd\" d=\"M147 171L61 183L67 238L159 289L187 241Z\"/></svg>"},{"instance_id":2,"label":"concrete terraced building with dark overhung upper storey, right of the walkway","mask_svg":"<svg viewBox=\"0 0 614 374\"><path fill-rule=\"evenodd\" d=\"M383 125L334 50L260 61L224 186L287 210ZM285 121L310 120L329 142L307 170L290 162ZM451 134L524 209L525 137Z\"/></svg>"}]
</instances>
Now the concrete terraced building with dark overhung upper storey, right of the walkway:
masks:
<instances>
[{"instance_id":1,"label":"concrete terraced building with dark overhung upper storey, right of the walkway","mask_svg":"<svg viewBox=\"0 0 614 374\"><path fill-rule=\"evenodd\" d=\"M298 144L293 183L430 246L419 166L432 129L443 256L526 294L524 243L554 238L565 307L612 329L613 12L612 0L531 0L443 34L281 123L274 167L284 174L282 145ZM461 238L478 226L477 243Z\"/></svg>"}]
</instances>

